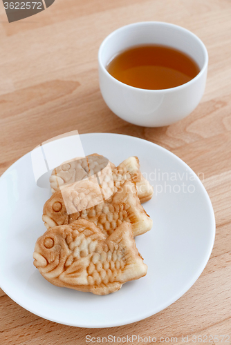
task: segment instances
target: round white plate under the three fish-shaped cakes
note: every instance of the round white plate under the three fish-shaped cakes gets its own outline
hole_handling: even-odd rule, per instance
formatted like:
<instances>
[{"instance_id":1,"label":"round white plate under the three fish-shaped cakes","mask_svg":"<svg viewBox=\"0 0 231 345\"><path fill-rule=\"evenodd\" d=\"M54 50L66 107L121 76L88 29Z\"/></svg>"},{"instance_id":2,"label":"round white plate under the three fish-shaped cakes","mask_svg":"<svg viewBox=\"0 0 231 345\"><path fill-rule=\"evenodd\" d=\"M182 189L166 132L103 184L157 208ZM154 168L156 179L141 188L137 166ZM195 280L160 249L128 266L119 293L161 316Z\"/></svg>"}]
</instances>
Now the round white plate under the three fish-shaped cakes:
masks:
<instances>
[{"instance_id":1,"label":"round white plate under the three fish-shaped cakes","mask_svg":"<svg viewBox=\"0 0 231 345\"><path fill-rule=\"evenodd\" d=\"M129 324L162 311L196 282L214 244L214 211L196 174L164 148L125 135L80 138L85 155L98 152L115 164L138 156L142 172L154 184L156 195L143 205L154 226L136 237L148 266L146 277L124 284L117 293L97 296L58 288L39 274L33 250L46 230L41 214L51 193L35 184L29 152L0 179L0 285L19 305L54 322L81 327Z\"/></svg>"}]
</instances>

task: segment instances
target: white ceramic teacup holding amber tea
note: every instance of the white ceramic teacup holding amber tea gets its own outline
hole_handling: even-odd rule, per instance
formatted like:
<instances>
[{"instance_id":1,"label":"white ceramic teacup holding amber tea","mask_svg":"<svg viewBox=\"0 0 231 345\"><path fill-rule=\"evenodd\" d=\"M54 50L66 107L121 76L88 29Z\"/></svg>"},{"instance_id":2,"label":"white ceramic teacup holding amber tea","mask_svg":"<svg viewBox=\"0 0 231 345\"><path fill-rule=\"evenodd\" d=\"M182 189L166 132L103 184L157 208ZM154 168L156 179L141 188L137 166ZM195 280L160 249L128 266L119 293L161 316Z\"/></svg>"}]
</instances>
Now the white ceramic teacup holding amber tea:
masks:
<instances>
[{"instance_id":1,"label":"white ceramic teacup holding amber tea","mask_svg":"<svg viewBox=\"0 0 231 345\"><path fill-rule=\"evenodd\" d=\"M141 44L176 48L190 55L200 72L187 83L164 90L134 88L107 72L107 63L120 52ZM170 23L146 21L123 26L104 39L98 53L100 90L118 117L138 126L167 126L183 119L198 106L205 90L208 55L195 34Z\"/></svg>"}]
</instances>

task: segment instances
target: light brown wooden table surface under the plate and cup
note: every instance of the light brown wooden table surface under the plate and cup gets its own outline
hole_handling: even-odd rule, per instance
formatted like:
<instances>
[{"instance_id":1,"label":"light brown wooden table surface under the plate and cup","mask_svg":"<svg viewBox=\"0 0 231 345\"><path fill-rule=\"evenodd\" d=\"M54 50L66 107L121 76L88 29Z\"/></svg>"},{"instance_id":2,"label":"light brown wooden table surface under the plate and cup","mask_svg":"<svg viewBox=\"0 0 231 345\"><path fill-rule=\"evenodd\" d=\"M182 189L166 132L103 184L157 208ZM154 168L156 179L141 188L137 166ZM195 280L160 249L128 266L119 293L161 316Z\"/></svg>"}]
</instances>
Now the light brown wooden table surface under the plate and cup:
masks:
<instances>
[{"instance_id":1,"label":"light brown wooden table surface under the plate and cup","mask_svg":"<svg viewBox=\"0 0 231 345\"><path fill-rule=\"evenodd\" d=\"M100 43L111 31L136 21L184 26L207 46L203 99L172 126L128 124L113 115L100 94ZM231 342L230 0L56 0L15 23L8 23L0 3L0 46L0 174L41 142L74 129L133 135L167 148L201 173L216 217L214 249L205 270L164 311L128 326L75 328L33 315L0 290L0 344L77 345L86 344L86 335L178 337L178 343L183 335L188 344L195 344L195 335L205 336L205 342L206 335L218 335L219 344L221 335L230 335L222 344Z\"/></svg>"}]
</instances>

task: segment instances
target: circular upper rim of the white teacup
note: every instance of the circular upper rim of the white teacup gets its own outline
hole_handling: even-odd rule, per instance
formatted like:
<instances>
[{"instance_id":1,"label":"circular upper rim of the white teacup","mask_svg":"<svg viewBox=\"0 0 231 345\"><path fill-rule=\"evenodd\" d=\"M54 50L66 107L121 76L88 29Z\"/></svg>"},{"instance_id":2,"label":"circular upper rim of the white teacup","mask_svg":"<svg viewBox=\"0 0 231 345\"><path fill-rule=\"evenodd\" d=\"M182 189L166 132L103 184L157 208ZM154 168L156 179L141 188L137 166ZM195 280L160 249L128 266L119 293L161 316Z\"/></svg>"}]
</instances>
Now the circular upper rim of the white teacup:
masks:
<instances>
[{"instance_id":1,"label":"circular upper rim of the white teacup","mask_svg":"<svg viewBox=\"0 0 231 345\"><path fill-rule=\"evenodd\" d=\"M126 29L126 28L131 28L132 26L148 26L150 24L160 24L163 26L169 26L169 27L174 27L174 28L180 28L181 30L183 30L184 32L186 32L187 34L190 34L192 37L194 37L194 39L196 39L196 41L198 41L198 43L200 44L202 50L203 50L203 55L205 57L205 61L203 63L203 67L201 68L200 72L198 72L198 75L196 75L196 77L194 77L193 79L191 79L190 81L187 81L187 83L183 83L179 86L175 86L174 88L165 88L165 89L145 89L145 88L136 88L135 86L131 86L128 85L126 83L122 83L122 81L119 81L118 79L115 79L115 77L113 77L112 75L110 75L110 73L107 71L107 69L105 68L105 66L102 63L102 49L104 48L105 44L107 43L107 41L109 41L109 39L111 39L111 37L114 34L117 34L118 32ZM140 92L150 92L150 93L159 93L159 92L172 92L173 90L180 90L181 88L185 88L186 86L190 85L191 83L194 83L198 78L201 77L201 75L203 75L203 73L205 72L205 70L207 69L207 65L208 65L208 53L207 53L207 48L205 47L205 44L203 43L203 41L201 41L201 39L199 39L198 36L196 36L196 34L194 34L192 31L187 30L185 28L183 28L183 26L178 26L176 24L172 24L172 23L167 23L165 21L138 21L137 23L131 23L125 26L121 26L120 28L114 30L113 32L111 32L107 37L105 37L105 39L102 41L102 43L100 44L100 48L98 50L98 63L100 65L100 68L102 68L102 70L104 71L104 73L106 73L108 75L108 77L113 80L115 83L118 83L118 85L120 86L125 86L131 90L140 90Z\"/></svg>"}]
</instances>

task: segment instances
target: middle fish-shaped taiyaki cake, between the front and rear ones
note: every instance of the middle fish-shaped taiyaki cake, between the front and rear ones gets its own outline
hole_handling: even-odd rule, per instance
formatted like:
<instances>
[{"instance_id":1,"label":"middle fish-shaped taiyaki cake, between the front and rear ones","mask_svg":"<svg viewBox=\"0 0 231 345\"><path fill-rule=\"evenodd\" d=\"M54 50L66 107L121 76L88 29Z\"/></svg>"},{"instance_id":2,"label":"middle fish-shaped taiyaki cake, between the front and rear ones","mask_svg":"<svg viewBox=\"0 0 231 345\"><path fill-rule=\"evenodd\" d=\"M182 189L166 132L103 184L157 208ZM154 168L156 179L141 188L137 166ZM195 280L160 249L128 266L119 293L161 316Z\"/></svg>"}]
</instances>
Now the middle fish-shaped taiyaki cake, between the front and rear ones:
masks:
<instances>
[{"instance_id":1,"label":"middle fish-shaped taiyaki cake, between the front and rear ones","mask_svg":"<svg viewBox=\"0 0 231 345\"><path fill-rule=\"evenodd\" d=\"M98 185L91 181L81 182L83 185L84 182L87 182L91 189L91 192L86 191L86 199L83 189L80 193L78 188L66 188L62 191L59 190L46 201L42 216L46 228L71 224L77 219L87 219L98 226L102 233L107 236L111 235L115 228L118 228L124 221L131 223L134 236L142 235L151 230L152 220L140 204L133 182L126 181L112 197L93 207L90 207L90 196L93 194L97 197L93 188L98 187ZM84 210L81 210L82 207L79 210L80 203L84 204Z\"/></svg>"}]
</instances>

